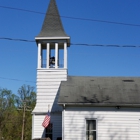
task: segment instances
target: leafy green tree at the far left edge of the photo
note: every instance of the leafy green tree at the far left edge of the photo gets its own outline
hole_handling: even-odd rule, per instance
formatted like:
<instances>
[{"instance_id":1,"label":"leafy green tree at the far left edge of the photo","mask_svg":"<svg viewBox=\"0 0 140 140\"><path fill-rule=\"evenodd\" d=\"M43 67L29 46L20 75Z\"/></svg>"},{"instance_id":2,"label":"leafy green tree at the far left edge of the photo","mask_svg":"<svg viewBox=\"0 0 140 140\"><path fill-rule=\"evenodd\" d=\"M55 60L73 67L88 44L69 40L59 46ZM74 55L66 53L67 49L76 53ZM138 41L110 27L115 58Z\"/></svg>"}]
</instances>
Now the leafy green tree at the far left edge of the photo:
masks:
<instances>
[{"instance_id":1,"label":"leafy green tree at the far left edge of the photo","mask_svg":"<svg viewBox=\"0 0 140 140\"><path fill-rule=\"evenodd\" d=\"M10 128L15 117L16 106L15 106L16 95L8 89L0 89L0 138L5 137L9 134Z\"/></svg>"}]
</instances>

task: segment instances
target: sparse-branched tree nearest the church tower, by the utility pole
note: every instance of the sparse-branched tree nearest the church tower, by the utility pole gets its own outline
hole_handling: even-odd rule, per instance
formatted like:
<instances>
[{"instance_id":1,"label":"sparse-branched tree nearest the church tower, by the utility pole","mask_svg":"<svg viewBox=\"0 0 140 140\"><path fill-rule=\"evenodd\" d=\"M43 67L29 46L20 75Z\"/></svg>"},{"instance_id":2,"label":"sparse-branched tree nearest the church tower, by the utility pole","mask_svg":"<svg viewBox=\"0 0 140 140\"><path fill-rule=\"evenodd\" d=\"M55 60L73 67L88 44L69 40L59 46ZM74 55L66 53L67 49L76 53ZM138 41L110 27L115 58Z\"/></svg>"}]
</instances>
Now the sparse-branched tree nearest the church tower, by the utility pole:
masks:
<instances>
[{"instance_id":1,"label":"sparse-branched tree nearest the church tower, by the utility pole","mask_svg":"<svg viewBox=\"0 0 140 140\"><path fill-rule=\"evenodd\" d=\"M34 108L36 103L36 93L34 87L29 85L23 85L18 90L19 106L22 107L23 123L22 123L22 140L31 139L32 121L31 112L28 112L30 108ZM25 111L27 111L25 113ZM26 114L26 115L25 115ZM25 127L24 127L25 126ZM25 133L24 133L25 131ZM24 135L24 138L23 138Z\"/></svg>"}]
</instances>

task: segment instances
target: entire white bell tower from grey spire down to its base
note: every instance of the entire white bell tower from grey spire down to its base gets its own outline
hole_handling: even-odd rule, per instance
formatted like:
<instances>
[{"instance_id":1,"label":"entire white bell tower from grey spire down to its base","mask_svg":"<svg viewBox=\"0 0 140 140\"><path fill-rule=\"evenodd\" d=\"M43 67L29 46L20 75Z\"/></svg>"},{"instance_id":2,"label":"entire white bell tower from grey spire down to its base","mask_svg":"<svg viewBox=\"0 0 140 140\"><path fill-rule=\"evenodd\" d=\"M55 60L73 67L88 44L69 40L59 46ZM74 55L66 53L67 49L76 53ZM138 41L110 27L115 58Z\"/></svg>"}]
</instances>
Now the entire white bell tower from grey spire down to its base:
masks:
<instances>
[{"instance_id":1,"label":"entire white bell tower from grey spire down to its base","mask_svg":"<svg viewBox=\"0 0 140 140\"><path fill-rule=\"evenodd\" d=\"M70 37L65 33L55 0L50 0L40 33L38 47L37 100L32 112L32 139L47 137L42 122L51 114L52 139L62 137L62 108L57 104L61 81L67 80L67 49Z\"/></svg>"}]
</instances>

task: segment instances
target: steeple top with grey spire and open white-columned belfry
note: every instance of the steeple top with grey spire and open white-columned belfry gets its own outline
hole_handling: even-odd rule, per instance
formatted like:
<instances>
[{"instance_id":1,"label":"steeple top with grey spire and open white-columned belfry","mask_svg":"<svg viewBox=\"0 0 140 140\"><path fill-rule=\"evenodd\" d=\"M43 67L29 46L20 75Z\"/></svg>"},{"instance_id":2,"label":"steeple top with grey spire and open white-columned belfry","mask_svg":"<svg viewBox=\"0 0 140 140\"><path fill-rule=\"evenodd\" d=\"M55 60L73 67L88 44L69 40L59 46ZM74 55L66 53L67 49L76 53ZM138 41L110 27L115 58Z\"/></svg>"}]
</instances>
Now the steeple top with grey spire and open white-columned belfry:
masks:
<instances>
[{"instance_id":1,"label":"steeple top with grey spire and open white-columned belfry","mask_svg":"<svg viewBox=\"0 0 140 140\"><path fill-rule=\"evenodd\" d=\"M50 0L42 29L35 40L38 45L39 69L67 69L67 47L70 46L70 37L64 31L55 0ZM63 58L60 56L60 50L64 51Z\"/></svg>"}]
</instances>

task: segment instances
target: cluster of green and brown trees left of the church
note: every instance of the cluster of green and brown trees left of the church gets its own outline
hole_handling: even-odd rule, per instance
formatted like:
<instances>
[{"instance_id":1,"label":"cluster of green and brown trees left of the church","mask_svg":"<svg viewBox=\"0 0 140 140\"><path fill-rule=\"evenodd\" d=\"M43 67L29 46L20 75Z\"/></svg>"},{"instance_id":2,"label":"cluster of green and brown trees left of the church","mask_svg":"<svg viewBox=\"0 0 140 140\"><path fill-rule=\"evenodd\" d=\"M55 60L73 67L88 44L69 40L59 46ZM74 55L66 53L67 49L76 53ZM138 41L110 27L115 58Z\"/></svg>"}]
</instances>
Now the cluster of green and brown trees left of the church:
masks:
<instances>
[{"instance_id":1,"label":"cluster of green and brown trees left of the church","mask_svg":"<svg viewBox=\"0 0 140 140\"><path fill-rule=\"evenodd\" d=\"M0 89L0 139L2 137L4 140L21 139L24 101L27 106L34 108L36 102L34 87L23 85L17 94L8 89ZM18 111L19 107L21 111ZM24 140L31 139L31 120L31 112L26 112Z\"/></svg>"}]
</instances>

